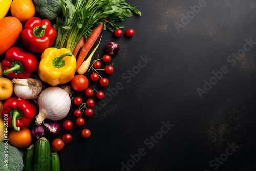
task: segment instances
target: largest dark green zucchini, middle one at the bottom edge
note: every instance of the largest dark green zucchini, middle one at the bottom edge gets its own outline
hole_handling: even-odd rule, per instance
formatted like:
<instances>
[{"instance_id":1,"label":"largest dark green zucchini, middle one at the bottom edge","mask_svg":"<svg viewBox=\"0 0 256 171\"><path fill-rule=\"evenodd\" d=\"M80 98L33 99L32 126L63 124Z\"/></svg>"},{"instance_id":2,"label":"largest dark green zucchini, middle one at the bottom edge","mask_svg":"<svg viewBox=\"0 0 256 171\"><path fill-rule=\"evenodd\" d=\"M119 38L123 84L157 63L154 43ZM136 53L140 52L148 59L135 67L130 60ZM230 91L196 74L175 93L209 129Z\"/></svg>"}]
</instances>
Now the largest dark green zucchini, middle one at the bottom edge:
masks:
<instances>
[{"instance_id":1,"label":"largest dark green zucchini, middle one at the bottom edge","mask_svg":"<svg viewBox=\"0 0 256 171\"><path fill-rule=\"evenodd\" d=\"M33 163L33 170L49 171L51 169L50 144L45 137L38 139L35 143Z\"/></svg>"}]
</instances>

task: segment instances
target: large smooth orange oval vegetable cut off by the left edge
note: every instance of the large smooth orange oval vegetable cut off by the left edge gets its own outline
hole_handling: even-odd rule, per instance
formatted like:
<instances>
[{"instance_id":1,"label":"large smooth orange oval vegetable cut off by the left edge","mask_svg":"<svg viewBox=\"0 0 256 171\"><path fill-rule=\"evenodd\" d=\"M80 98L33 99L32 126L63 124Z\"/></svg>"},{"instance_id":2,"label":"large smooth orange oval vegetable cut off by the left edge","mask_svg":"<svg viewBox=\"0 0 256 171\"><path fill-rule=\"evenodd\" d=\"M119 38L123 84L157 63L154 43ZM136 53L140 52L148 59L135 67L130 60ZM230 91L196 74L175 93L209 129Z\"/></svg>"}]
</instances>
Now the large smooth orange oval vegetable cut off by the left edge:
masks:
<instances>
[{"instance_id":1,"label":"large smooth orange oval vegetable cut off by the left edge","mask_svg":"<svg viewBox=\"0 0 256 171\"><path fill-rule=\"evenodd\" d=\"M0 56L11 48L22 33L22 23L15 17L0 19Z\"/></svg>"}]
</instances>

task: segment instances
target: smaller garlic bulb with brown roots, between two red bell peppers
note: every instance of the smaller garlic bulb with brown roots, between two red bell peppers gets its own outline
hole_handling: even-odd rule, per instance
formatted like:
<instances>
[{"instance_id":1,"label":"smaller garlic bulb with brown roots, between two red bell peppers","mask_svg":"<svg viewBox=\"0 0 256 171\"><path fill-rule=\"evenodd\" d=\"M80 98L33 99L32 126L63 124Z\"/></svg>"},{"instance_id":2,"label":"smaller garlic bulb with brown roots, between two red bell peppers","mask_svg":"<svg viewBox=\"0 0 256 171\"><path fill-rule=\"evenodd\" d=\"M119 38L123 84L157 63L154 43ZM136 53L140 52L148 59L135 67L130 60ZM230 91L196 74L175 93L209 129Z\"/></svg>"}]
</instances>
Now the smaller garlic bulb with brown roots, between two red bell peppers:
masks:
<instances>
[{"instance_id":1,"label":"smaller garlic bulb with brown roots, between two red bell peppers","mask_svg":"<svg viewBox=\"0 0 256 171\"><path fill-rule=\"evenodd\" d=\"M37 79L13 79L14 93L23 99L33 99L42 91L42 83Z\"/></svg>"}]
</instances>

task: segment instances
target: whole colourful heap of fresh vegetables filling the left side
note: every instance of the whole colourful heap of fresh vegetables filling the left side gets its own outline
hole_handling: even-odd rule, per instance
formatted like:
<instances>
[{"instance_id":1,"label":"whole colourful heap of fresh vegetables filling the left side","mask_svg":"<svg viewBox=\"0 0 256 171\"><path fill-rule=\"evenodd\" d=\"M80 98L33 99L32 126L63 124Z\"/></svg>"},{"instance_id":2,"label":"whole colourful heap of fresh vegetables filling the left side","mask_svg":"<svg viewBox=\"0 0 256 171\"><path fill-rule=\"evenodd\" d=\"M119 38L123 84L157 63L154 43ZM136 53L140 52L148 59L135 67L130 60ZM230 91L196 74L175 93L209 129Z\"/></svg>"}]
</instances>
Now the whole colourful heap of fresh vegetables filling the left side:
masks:
<instances>
[{"instance_id":1,"label":"whole colourful heap of fresh vegetables filling the left side","mask_svg":"<svg viewBox=\"0 0 256 171\"><path fill-rule=\"evenodd\" d=\"M73 141L68 131L80 127L82 138L91 136L84 124L105 98L100 89L111 84L108 62L121 47L117 40L101 46L102 30L121 37L124 27L116 23L141 13L124 0L4 0L0 6L0 140L16 151L6 167L1 159L0 170L60 170L57 152ZM9 10L12 17L5 17ZM125 33L132 37L134 30ZM96 58L101 47L105 55ZM74 91L81 93L73 97ZM73 120L65 120L72 103Z\"/></svg>"}]
</instances>

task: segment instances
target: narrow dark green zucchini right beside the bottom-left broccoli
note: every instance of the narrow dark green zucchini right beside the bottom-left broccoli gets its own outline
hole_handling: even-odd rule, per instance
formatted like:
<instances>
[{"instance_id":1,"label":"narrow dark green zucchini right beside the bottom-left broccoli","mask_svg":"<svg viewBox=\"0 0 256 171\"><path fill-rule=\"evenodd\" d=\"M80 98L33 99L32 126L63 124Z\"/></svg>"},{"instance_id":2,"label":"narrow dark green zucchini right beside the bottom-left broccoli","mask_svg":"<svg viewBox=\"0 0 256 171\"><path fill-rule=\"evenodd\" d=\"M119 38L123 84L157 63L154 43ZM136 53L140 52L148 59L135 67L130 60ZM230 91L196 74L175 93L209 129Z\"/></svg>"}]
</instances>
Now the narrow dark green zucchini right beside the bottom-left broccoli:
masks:
<instances>
[{"instance_id":1,"label":"narrow dark green zucchini right beside the bottom-left broccoli","mask_svg":"<svg viewBox=\"0 0 256 171\"><path fill-rule=\"evenodd\" d=\"M34 144L31 144L24 153L24 171L31 171L33 170L33 151L34 151Z\"/></svg>"}]
</instances>

